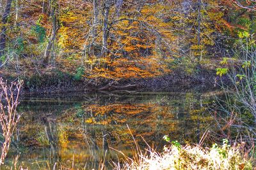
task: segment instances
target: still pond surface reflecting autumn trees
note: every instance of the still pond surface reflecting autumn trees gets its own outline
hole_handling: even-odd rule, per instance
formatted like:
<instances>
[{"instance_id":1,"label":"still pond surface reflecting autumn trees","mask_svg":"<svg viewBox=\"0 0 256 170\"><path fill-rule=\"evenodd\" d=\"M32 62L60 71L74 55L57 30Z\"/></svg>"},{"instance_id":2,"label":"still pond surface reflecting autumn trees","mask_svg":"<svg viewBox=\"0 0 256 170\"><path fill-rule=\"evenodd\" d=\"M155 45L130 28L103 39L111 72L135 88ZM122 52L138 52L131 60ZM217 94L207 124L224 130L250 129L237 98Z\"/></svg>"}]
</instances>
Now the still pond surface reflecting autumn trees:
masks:
<instances>
[{"instance_id":1,"label":"still pond surface reflecting autumn trees","mask_svg":"<svg viewBox=\"0 0 256 170\"><path fill-rule=\"evenodd\" d=\"M20 153L19 164L29 169L53 169L56 162L62 168L98 169L102 160L111 169L109 162L122 157L115 150L129 156L136 148L131 134L141 150L147 145L163 150L168 145L164 135L180 143L198 143L214 122L207 111L214 94L25 97L20 101L22 118L10 155Z\"/></svg>"}]
</instances>

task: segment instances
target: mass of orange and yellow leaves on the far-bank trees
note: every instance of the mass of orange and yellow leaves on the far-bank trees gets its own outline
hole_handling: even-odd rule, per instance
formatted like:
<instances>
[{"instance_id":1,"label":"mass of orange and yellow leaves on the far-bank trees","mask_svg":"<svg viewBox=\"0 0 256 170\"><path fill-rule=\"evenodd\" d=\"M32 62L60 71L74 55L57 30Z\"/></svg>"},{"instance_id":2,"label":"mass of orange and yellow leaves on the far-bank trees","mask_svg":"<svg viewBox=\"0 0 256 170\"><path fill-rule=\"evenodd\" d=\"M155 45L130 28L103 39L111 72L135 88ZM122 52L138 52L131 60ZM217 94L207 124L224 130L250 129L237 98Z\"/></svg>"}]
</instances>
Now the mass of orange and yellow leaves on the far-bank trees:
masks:
<instances>
[{"instance_id":1,"label":"mass of orange and yellow leaves on the far-bank trees","mask_svg":"<svg viewBox=\"0 0 256 170\"><path fill-rule=\"evenodd\" d=\"M86 8L88 11L79 11L73 8L64 8L65 3L61 3L61 5L63 5L63 11L61 11L60 17L59 45L63 52L68 53L68 55L79 53L79 56L82 56L81 50L84 50L84 46L92 43L92 39L90 39L92 20L90 19L93 15L89 11L93 10L92 6ZM129 12L134 11L132 6L128 10ZM160 34L163 34L164 38L173 41L170 23L163 22L162 15L168 16L164 10L168 10L168 7L162 4L145 5L141 8L142 15L137 18L132 19L129 15L121 13L118 18L120 21L113 22L113 24L109 18L109 53L104 59L96 59L93 56L97 55L95 53L100 53L100 45L102 44L102 32L100 31L102 23L99 23L95 27L99 34L93 40L95 46L90 47L86 53L88 56L84 60L86 65L84 76L93 79L120 80L159 76L164 74L164 71L168 71L166 64L161 60L162 56L155 52L156 34L151 30L156 28ZM114 11L111 8L110 13ZM99 20L102 19L100 18L102 15L99 14L98 17ZM146 24L147 27L145 23L148 23L148 25ZM86 39L87 36L88 39Z\"/></svg>"}]
</instances>

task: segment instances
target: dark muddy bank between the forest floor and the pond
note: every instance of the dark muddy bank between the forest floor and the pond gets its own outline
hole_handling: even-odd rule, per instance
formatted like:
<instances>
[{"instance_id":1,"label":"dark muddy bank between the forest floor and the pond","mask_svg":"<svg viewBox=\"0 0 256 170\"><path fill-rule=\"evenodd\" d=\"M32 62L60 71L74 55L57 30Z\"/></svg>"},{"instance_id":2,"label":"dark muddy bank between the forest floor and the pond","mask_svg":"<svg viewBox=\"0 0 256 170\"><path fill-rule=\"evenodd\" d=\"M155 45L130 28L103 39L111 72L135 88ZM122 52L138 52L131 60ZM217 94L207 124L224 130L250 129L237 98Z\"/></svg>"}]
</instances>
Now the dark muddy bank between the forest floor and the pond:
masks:
<instances>
[{"instance_id":1,"label":"dark muddy bank between the forest floor and the pond","mask_svg":"<svg viewBox=\"0 0 256 170\"><path fill-rule=\"evenodd\" d=\"M17 80L3 76L8 80ZM220 77L216 71L202 70L196 74L172 71L170 74L154 78L141 78L130 80L108 80L97 78L95 80L81 77L75 78L72 74L58 71L47 74L35 74L30 77L20 77L24 81L22 94L63 94L67 92L93 92L93 91L151 91L151 92L186 92L189 90L212 90L218 88ZM227 77L221 78L227 82Z\"/></svg>"}]
</instances>

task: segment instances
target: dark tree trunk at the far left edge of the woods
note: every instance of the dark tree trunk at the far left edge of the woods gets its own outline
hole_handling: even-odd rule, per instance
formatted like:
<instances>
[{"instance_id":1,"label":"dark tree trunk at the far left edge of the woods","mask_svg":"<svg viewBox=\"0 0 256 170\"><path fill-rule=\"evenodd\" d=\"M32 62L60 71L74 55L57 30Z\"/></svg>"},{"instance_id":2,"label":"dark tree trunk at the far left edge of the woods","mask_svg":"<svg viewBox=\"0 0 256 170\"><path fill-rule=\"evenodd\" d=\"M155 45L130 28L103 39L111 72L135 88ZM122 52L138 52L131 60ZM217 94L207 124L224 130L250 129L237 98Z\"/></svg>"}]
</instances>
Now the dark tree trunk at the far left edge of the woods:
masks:
<instances>
[{"instance_id":1,"label":"dark tree trunk at the far left edge of the woods","mask_svg":"<svg viewBox=\"0 0 256 170\"><path fill-rule=\"evenodd\" d=\"M7 23L7 18L10 15L10 11L11 11L11 6L12 6L12 0L7 0L6 1L6 7L3 13L3 17L2 17L2 21L1 24L3 24L2 27L2 31L0 34L0 57L2 57L4 55L4 49L6 46L6 27L4 24ZM2 66L2 63L0 61L0 67Z\"/></svg>"}]
</instances>

